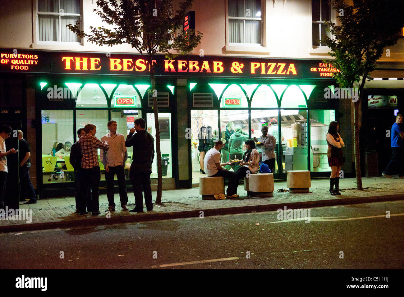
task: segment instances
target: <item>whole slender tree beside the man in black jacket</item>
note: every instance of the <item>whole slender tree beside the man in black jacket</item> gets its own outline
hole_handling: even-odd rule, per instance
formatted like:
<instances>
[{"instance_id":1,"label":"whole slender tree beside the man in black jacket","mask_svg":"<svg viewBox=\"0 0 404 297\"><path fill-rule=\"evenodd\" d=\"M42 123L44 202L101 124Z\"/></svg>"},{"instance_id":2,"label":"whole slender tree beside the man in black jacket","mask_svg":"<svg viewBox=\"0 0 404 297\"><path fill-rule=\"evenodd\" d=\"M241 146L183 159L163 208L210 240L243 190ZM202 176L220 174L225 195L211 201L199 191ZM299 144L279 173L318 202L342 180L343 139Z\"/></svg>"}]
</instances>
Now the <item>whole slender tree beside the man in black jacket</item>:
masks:
<instances>
[{"instance_id":1,"label":"whole slender tree beside the man in black jacket","mask_svg":"<svg viewBox=\"0 0 404 297\"><path fill-rule=\"evenodd\" d=\"M94 11L101 20L113 29L90 26L91 34L81 30L80 22L69 24L71 31L80 38L87 38L91 43L100 46L113 46L128 43L141 55L147 55L149 64L151 90L153 93L154 124L156 127L156 158L157 158L157 198L156 204L161 204L162 195L162 166L160 152L160 126L158 123L157 91L154 80L153 57L164 53L167 59L173 59L177 54L170 51L179 50L181 54L192 51L202 38L201 32L189 30L188 34L181 26L183 19L192 6L193 0L179 3L179 10L174 15L172 0L98 0L100 9ZM180 31L181 30L181 31Z\"/></svg>"}]
</instances>

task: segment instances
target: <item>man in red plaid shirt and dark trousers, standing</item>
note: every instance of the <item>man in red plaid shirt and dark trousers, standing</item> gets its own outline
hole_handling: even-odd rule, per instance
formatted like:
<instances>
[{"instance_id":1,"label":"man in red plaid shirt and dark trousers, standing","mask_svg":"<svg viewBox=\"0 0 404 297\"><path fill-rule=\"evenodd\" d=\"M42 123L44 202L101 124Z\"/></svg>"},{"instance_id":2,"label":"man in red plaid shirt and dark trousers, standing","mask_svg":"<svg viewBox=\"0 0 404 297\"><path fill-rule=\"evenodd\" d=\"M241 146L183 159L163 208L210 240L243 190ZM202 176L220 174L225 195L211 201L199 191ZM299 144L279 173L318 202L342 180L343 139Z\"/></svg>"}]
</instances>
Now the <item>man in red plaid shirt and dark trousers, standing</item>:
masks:
<instances>
[{"instance_id":1,"label":"man in red plaid shirt and dark trousers, standing","mask_svg":"<svg viewBox=\"0 0 404 297\"><path fill-rule=\"evenodd\" d=\"M81 148L81 172L80 176L80 215L86 213L86 193L88 187L92 187L93 195L91 197L91 211L93 215L99 215L99 203L98 203L98 186L100 182L100 167L98 163L97 148L101 150L108 150L109 145L102 143L95 134L97 133L97 127L94 124L86 124L84 126L84 132L86 135L80 137L78 143ZM86 177L86 178L84 178Z\"/></svg>"}]
</instances>

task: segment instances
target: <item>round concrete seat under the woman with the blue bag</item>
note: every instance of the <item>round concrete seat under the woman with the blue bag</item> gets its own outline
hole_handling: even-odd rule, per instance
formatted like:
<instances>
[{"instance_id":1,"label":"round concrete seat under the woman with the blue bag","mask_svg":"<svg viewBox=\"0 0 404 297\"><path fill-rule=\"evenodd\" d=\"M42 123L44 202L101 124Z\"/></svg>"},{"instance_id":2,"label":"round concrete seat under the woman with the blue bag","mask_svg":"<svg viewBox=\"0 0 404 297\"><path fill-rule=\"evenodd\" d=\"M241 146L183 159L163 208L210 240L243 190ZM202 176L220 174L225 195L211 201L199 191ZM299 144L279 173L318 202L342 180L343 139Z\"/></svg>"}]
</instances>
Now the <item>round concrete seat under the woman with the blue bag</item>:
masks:
<instances>
[{"instance_id":1,"label":"round concrete seat under the woman with the blue bag","mask_svg":"<svg viewBox=\"0 0 404 297\"><path fill-rule=\"evenodd\" d=\"M253 173L249 178L244 177L244 190L250 197L272 197L274 192L273 173Z\"/></svg>"}]
</instances>

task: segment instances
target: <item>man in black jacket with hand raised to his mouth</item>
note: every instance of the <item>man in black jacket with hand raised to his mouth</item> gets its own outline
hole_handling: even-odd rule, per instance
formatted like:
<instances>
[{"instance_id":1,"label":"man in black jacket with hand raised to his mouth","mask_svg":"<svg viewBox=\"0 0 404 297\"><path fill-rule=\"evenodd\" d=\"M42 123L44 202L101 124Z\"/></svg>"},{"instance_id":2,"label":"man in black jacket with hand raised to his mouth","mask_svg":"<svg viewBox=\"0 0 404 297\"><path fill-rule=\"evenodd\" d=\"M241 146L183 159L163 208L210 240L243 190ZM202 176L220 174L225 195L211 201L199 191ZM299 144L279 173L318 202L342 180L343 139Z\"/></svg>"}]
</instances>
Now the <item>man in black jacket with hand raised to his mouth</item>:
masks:
<instances>
[{"instance_id":1,"label":"man in black jacket with hand raised to his mouth","mask_svg":"<svg viewBox=\"0 0 404 297\"><path fill-rule=\"evenodd\" d=\"M136 206L132 212L143 212L143 193L147 211L153 210L151 202L151 163L154 159L154 138L145 130L146 122L142 118L135 120L135 128L130 129L126 137L125 146L133 146L133 161L130 165L129 178L133 185ZM136 134L133 133L136 131Z\"/></svg>"}]
</instances>

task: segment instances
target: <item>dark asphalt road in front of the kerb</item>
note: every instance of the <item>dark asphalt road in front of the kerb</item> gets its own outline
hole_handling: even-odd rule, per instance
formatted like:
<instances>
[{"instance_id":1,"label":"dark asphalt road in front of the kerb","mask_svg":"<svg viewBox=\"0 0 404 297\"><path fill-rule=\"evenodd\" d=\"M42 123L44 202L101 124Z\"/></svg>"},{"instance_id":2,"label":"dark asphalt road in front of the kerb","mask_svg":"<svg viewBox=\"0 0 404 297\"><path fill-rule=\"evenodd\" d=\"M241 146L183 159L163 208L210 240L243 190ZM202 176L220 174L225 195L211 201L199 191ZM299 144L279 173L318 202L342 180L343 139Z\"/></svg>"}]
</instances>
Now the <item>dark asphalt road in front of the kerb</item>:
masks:
<instances>
[{"instance_id":1,"label":"dark asphalt road in front of the kerb","mask_svg":"<svg viewBox=\"0 0 404 297\"><path fill-rule=\"evenodd\" d=\"M404 201L313 208L309 223L278 216L0 234L0 269L404 268Z\"/></svg>"}]
</instances>

